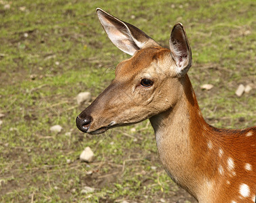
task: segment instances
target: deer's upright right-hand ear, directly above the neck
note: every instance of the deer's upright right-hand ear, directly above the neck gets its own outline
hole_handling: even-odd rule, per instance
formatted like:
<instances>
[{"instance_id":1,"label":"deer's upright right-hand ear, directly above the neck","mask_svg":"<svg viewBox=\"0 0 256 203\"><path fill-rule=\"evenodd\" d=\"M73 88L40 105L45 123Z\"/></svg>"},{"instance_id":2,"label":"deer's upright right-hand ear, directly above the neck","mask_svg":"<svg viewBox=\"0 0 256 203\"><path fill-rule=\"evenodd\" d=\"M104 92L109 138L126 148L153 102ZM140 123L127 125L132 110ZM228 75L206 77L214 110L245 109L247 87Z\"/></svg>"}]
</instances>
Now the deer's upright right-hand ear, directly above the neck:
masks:
<instances>
[{"instance_id":1,"label":"deer's upright right-hand ear, directly above the neck","mask_svg":"<svg viewBox=\"0 0 256 203\"><path fill-rule=\"evenodd\" d=\"M187 35L181 23L175 24L170 34L170 55L175 60L175 70L178 76L183 76L192 64L191 49Z\"/></svg>"}]
</instances>

